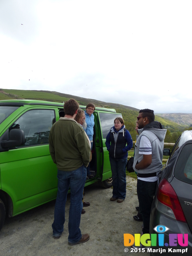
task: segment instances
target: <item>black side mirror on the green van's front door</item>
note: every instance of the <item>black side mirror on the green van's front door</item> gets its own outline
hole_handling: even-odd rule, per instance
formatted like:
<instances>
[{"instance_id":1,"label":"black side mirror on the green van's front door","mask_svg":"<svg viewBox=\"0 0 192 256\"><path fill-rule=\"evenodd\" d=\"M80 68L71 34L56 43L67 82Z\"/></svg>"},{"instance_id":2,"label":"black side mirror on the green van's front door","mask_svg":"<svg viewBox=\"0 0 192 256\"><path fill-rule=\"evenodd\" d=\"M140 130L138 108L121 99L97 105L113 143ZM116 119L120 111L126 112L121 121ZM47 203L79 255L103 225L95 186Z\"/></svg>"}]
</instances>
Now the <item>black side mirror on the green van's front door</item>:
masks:
<instances>
[{"instance_id":1,"label":"black side mirror on the green van's front door","mask_svg":"<svg viewBox=\"0 0 192 256\"><path fill-rule=\"evenodd\" d=\"M25 143L24 131L20 129L12 129L9 132L9 140L2 140L2 148L21 146Z\"/></svg>"}]
</instances>

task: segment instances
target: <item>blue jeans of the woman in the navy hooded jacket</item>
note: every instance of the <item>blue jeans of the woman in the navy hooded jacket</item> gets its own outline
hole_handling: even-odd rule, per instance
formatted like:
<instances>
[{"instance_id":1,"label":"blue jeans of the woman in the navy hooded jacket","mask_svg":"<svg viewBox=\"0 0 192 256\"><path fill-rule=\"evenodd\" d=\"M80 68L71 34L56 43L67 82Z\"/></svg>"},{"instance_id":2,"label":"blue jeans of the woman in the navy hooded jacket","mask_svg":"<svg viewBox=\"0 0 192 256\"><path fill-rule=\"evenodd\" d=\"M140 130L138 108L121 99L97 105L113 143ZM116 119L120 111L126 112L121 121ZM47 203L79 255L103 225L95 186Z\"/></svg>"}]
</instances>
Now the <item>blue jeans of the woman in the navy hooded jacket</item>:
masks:
<instances>
[{"instance_id":1,"label":"blue jeans of the woman in the navy hooded jacket","mask_svg":"<svg viewBox=\"0 0 192 256\"><path fill-rule=\"evenodd\" d=\"M125 199L126 196L126 163L127 158L116 159L109 157L112 171L113 197Z\"/></svg>"}]
</instances>

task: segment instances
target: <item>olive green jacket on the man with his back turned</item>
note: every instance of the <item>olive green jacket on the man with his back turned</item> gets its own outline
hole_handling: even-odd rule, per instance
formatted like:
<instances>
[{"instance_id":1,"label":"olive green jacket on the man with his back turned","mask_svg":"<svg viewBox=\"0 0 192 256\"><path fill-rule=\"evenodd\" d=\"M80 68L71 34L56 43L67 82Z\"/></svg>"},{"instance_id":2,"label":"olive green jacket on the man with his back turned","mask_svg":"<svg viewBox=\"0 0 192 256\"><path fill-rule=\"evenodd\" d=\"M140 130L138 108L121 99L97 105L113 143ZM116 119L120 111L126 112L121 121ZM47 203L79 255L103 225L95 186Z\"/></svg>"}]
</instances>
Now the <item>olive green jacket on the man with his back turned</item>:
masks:
<instances>
[{"instance_id":1,"label":"olive green jacket on the man with his back turned","mask_svg":"<svg viewBox=\"0 0 192 256\"><path fill-rule=\"evenodd\" d=\"M61 117L49 134L53 162L62 171L73 171L90 161L90 146L83 128L72 118Z\"/></svg>"}]
</instances>

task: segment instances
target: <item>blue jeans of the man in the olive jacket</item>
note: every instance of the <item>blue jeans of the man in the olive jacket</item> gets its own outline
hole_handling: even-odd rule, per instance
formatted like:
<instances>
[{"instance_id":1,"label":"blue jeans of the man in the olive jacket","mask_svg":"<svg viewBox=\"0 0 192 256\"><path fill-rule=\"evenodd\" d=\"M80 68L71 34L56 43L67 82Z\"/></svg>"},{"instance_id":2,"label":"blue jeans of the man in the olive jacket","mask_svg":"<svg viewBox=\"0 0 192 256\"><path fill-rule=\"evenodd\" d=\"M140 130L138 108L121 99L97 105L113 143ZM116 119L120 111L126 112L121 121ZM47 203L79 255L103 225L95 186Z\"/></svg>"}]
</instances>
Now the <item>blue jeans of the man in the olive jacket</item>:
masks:
<instances>
[{"instance_id":1,"label":"blue jeans of the man in the olive jacket","mask_svg":"<svg viewBox=\"0 0 192 256\"><path fill-rule=\"evenodd\" d=\"M54 222L52 224L53 235L60 236L65 223L65 204L70 186L70 209L68 241L76 243L81 239L80 220L83 208L82 194L86 181L86 167L82 165L74 171L58 170L58 192L54 210Z\"/></svg>"}]
</instances>

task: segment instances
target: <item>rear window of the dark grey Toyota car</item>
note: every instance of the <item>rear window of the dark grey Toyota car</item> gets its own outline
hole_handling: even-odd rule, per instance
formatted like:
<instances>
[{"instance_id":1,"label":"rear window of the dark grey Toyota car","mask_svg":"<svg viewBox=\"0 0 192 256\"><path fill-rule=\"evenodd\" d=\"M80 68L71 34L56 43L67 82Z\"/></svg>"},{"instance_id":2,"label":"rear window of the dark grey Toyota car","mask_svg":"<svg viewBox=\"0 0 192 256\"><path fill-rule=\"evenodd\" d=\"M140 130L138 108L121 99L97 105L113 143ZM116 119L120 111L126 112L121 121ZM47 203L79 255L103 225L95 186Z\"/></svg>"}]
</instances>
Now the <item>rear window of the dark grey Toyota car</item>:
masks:
<instances>
[{"instance_id":1,"label":"rear window of the dark grey Toyota car","mask_svg":"<svg viewBox=\"0 0 192 256\"><path fill-rule=\"evenodd\" d=\"M178 180L192 184L192 144L187 144L182 149L174 175Z\"/></svg>"}]
</instances>

